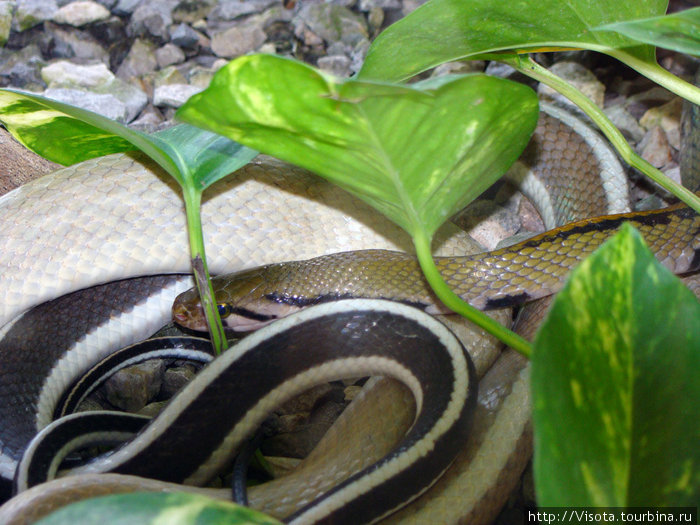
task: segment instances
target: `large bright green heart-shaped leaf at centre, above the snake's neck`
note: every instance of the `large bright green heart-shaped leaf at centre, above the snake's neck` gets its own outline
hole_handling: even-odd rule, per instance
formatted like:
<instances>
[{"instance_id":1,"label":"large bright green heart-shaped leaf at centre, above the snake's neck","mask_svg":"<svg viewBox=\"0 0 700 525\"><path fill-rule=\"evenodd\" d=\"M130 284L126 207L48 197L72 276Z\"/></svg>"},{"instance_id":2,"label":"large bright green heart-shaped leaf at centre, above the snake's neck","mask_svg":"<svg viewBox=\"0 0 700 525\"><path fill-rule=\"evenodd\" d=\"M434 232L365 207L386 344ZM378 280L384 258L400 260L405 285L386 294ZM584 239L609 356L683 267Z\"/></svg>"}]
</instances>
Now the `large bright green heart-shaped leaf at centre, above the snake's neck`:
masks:
<instances>
[{"instance_id":1,"label":"large bright green heart-shaped leaf at centre, above the snake's neck","mask_svg":"<svg viewBox=\"0 0 700 525\"><path fill-rule=\"evenodd\" d=\"M429 235L518 157L534 93L484 75L410 87L345 82L289 59L238 58L177 116L303 166Z\"/></svg>"}]
</instances>

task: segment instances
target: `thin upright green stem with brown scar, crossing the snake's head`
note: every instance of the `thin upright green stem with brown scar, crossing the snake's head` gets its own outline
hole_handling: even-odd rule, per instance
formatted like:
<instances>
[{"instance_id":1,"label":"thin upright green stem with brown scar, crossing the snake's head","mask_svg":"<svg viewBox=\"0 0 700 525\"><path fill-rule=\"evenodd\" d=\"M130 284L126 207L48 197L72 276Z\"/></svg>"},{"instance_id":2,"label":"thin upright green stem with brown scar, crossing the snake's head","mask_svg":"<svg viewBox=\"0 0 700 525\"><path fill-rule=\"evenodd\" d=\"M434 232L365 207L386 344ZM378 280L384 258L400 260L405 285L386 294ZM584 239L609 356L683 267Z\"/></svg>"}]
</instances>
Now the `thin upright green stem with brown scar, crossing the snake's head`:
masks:
<instances>
[{"instance_id":1,"label":"thin upright green stem with brown scar, crossing the snake's head","mask_svg":"<svg viewBox=\"0 0 700 525\"><path fill-rule=\"evenodd\" d=\"M200 213L202 192L194 188L183 188L185 197L185 213L187 215L187 232L190 240L190 254L192 255L192 269L194 279L199 291L199 297L204 308L204 315L209 326L209 334L214 345L214 352L219 355L226 350L228 342L221 317L214 301L214 289L209 278L207 259L204 253L204 236L202 233L202 216Z\"/></svg>"}]
</instances>

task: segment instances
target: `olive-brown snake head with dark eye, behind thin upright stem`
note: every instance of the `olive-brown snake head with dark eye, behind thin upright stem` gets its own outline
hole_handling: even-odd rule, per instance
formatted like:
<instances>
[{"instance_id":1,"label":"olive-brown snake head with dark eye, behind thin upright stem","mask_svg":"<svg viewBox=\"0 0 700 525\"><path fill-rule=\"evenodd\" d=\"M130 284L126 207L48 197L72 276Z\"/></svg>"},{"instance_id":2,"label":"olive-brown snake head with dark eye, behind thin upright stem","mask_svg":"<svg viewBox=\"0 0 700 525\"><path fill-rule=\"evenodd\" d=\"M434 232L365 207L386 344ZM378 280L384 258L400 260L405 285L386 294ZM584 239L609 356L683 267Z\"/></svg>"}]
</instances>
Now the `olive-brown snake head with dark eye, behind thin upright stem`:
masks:
<instances>
[{"instance_id":1,"label":"olive-brown snake head with dark eye, behind thin upright stem","mask_svg":"<svg viewBox=\"0 0 700 525\"><path fill-rule=\"evenodd\" d=\"M299 308L270 301L271 286L275 286L278 269L269 265L239 273L221 275L211 280L216 306L224 328L234 332L257 330L285 317ZM206 331L204 309L196 288L180 294L173 303L173 321L190 330Z\"/></svg>"}]
</instances>

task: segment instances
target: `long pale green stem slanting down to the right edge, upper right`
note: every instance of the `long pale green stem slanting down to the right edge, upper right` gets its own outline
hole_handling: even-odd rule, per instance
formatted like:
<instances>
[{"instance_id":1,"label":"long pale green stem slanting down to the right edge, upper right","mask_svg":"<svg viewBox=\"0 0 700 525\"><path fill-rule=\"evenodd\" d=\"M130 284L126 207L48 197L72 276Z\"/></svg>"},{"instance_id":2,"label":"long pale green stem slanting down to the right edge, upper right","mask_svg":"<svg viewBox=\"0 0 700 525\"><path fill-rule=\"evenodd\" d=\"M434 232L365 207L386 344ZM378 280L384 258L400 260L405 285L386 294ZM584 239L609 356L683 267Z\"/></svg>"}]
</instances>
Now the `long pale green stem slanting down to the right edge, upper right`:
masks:
<instances>
[{"instance_id":1,"label":"long pale green stem slanting down to the right edge, upper right","mask_svg":"<svg viewBox=\"0 0 700 525\"><path fill-rule=\"evenodd\" d=\"M695 195L688 188L669 179L660 170L656 169L642 157L637 155L632 149L632 146L629 145L620 130L615 127L607 115L603 113L603 111L581 91L554 75L548 69L540 66L529 56L522 57L509 55L507 57L502 57L499 60L514 67L521 73L548 85L571 100L598 125L600 130L620 153L625 162L634 168L637 168L659 186L671 192L673 195L688 204L688 206L700 213L700 197Z\"/></svg>"}]
</instances>

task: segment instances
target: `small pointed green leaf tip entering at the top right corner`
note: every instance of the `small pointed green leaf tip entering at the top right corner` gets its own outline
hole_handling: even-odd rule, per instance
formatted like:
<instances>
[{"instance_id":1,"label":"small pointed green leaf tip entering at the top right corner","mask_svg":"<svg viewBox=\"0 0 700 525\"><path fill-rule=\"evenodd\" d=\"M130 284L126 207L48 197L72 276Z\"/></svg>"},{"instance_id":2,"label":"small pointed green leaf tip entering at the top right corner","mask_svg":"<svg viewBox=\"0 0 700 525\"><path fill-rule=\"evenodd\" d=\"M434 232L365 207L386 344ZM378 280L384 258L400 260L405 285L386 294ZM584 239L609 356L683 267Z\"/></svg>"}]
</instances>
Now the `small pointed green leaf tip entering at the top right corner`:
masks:
<instances>
[{"instance_id":1,"label":"small pointed green leaf tip entering at the top right corner","mask_svg":"<svg viewBox=\"0 0 700 525\"><path fill-rule=\"evenodd\" d=\"M596 31L615 31L645 44L700 55L700 7L672 15L607 24L597 27Z\"/></svg>"}]
</instances>

